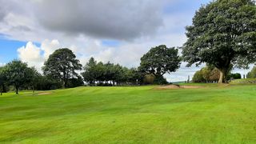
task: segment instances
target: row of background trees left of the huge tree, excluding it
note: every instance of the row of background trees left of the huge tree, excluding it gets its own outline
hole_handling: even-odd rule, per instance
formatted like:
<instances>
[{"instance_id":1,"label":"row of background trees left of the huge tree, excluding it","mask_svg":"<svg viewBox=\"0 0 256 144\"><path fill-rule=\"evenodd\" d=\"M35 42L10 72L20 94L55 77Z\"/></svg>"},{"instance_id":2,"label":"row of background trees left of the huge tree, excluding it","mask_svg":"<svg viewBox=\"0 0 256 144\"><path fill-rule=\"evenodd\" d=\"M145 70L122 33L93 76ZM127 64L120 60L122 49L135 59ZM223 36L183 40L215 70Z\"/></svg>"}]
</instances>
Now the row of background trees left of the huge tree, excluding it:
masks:
<instances>
[{"instance_id":1,"label":"row of background trees left of the huge tree, excluding it","mask_svg":"<svg viewBox=\"0 0 256 144\"><path fill-rule=\"evenodd\" d=\"M18 90L69 88L83 86L84 82L89 86L162 84L167 83L163 74L178 70L180 62L177 49L161 45L144 54L137 68L97 62L94 58L82 66L72 50L62 48L50 54L42 66L42 74L19 60L0 67L0 90L2 94L12 88L18 94Z\"/></svg>"}]
</instances>

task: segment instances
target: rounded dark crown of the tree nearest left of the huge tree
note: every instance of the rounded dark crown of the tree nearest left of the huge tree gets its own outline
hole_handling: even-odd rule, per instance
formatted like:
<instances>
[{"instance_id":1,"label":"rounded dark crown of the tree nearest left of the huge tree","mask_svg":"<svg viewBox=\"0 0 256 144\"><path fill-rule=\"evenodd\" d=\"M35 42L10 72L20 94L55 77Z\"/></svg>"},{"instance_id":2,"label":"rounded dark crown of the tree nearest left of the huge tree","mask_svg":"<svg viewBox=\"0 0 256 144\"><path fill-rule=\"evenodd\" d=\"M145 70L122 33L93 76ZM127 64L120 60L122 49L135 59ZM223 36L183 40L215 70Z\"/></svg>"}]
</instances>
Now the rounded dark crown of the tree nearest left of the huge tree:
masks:
<instances>
[{"instance_id":1,"label":"rounded dark crown of the tree nearest left of the huge tree","mask_svg":"<svg viewBox=\"0 0 256 144\"><path fill-rule=\"evenodd\" d=\"M141 58L139 69L146 74L162 77L163 74L170 74L178 70L181 59L178 56L178 50L167 48L165 45L156 46L150 49Z\"/></svg>"}]
</instances>

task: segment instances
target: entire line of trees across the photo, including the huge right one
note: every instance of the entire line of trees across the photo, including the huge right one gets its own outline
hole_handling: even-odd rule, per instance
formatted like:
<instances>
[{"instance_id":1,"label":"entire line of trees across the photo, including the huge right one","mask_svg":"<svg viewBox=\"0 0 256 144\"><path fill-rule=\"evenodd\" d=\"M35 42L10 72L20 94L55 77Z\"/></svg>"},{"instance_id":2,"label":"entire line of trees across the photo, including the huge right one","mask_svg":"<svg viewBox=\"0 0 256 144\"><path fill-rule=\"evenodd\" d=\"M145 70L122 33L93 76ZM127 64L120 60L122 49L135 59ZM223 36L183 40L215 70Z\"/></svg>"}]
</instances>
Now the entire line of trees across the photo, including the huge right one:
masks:
<instances>
[{"instance_id":1,"label":"entire line of trees across the photo, including the huge right one","mask_svg":"<svg viewBox=\"0 0 256 144\"><path fill-rule=\"evenodd\" d=\"M66 88L83 85L83 80L92 86L138 85L146 81L160 84L166 83L163 75L178 70L182 61L188 62L187 66L202 63L214 66L214 69L206 68L196 74L207 72L204 81L218 78L219 83L228 82L228 74L234 67L248 68L250 63L256 62L255 19L253 0L216 0L202 5L192 25L186 26L187 40L180 48L181 57L174 47L161 45L144 54L137 68L96 62L93 58L82 66L74 53L64 48L50 55L42 68L43 74L18 60L0 68L1 91L10 85L16 93L27 87L33 90ZM83 70L82 76L78 70ZM253 75L248 74L249 77Z\"/></svg>"}]
</instances>

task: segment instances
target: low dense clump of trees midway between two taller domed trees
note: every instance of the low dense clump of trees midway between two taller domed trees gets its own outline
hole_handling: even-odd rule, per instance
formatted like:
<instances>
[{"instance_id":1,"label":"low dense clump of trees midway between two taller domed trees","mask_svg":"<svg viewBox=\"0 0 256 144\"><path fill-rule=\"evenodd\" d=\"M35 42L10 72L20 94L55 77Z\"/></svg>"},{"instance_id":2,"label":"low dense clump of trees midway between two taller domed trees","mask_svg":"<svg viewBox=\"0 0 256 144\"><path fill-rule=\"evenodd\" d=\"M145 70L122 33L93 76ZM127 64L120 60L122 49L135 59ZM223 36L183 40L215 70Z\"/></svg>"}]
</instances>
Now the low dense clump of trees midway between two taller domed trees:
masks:
<instances>
[{"instance_id":1,"label":"low dense clump of trees midway between two taller domed trees","mask_svg":"<svg viewBox=\"0 0 256 144\"><path fill-rule=\"evenodd\" d=\"M82 76L90 86L95 86L96 83L100 86L138 85L142 80L142 74L135 68L128 69L110 62L97 62L94 58L90 58L84 70Z\"/></svg>"}]
</instances>

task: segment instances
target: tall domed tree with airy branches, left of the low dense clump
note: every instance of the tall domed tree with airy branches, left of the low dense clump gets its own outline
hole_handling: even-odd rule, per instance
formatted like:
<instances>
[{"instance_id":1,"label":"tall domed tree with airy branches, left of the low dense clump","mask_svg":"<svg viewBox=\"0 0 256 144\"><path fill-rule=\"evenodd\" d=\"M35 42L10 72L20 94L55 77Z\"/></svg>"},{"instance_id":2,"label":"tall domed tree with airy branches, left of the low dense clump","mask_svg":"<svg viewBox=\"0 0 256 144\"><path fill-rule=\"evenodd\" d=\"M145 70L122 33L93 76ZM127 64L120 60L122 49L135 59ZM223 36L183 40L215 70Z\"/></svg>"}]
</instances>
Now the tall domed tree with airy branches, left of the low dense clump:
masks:
<instances>
[{"instance_id":1,"label":"tall domed tree with airy branches, left of the low dense clump","mask_svg":"<svg viewBox=\"0 0 256 144\"><path fill-rule=\"evenodd\" d=\"M51 78L58 78L66 88L70 78L77 77L75 70L82 70L82 65L76 56L67 48L55 50L44 63L43 73Z\"/></svg>"}]
</instances>

